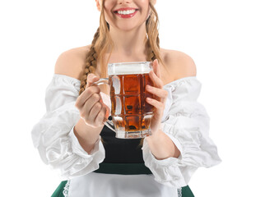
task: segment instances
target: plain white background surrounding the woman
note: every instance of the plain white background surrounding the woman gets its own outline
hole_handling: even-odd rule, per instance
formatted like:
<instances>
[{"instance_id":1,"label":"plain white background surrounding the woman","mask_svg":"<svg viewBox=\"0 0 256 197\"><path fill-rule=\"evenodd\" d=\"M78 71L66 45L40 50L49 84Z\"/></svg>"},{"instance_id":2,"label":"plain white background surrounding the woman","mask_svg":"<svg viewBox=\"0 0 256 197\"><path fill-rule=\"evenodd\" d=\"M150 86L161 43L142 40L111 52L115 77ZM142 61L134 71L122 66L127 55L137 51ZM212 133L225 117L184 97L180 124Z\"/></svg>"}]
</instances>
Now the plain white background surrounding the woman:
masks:
<instances>
[{"instance_id":1,"label":"plain white background surrounding the woman","mask_svg":"<svg viewBox=\"0 0 256 197\"><path fill-rule=\"evenodd\" d=\"M189 54L222 163L199 168L196 197L254 196L256 12L253 0L158 0L161 48ZM60 53L91 44L94 0L1 1L1 196L50 196L58 172L40 160L30 131ZM36 195L35 195L36 194Z\"/></svg>"}]
</instances>

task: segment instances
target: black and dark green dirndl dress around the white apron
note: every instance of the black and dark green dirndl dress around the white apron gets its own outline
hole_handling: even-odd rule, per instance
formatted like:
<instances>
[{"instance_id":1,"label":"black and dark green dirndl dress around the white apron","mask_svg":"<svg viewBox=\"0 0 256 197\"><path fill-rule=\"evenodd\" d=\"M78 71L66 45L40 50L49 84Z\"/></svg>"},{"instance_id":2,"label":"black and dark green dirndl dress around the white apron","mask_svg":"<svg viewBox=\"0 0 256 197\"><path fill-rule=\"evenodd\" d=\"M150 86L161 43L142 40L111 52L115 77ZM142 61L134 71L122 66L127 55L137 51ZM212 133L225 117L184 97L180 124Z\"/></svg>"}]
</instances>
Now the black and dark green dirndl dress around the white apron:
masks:
<instances>
[{"instance_id":1,"label":"black and dark green dirndl dress around the white apron","mask_svg":"<svg viewBox=\"0 0 256 197\"><path fill-rule=\"evenodd\" d=\"M120 175L152 174L144 164L142 149L138 147L140 139L115 138L115 133L107 126L104 126L100 135L105 141L103 144L105 159L103 163L100 163L99 169L94 172ZM67 191L67 188L65 190L66 183L67 181L62 181L52 197L64 197L63 192ZM189 186L181 188L181 196L194 197Z\"/></svg>"}]
</instances>

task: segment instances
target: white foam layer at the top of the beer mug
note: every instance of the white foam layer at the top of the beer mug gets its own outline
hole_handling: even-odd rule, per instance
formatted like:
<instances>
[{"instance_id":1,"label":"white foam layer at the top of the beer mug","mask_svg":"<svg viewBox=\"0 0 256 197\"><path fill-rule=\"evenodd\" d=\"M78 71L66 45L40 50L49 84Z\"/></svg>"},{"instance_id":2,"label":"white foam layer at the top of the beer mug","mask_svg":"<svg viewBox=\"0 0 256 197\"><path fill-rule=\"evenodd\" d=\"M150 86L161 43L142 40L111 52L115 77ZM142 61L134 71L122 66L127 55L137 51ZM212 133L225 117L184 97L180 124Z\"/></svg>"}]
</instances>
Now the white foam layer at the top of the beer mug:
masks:
<instances>
[{"instance_id":1,"label":"white foam layer at the top of the beer mug","mask_svg":"<svg viewBox=\"0 0 256 197\"><path fill-rule=\"evenodd\" d=\"M151 62L125 62L109 64L108 74L134 75L149 73L152 70Z\"/></svg>"}]
</instances>

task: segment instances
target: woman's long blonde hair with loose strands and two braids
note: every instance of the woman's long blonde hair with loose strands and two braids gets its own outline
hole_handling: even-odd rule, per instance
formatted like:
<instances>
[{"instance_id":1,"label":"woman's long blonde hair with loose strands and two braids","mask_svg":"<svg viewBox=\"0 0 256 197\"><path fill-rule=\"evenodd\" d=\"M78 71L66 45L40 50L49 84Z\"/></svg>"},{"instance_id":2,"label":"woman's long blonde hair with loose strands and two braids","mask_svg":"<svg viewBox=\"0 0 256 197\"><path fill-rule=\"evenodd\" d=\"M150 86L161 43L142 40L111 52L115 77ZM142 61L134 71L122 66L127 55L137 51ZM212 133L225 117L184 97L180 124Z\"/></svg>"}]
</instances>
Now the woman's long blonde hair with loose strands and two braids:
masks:
<instances>
[{"instance_id":1,"label":"woman's long blonde hair with loose strands and two braids","mask_svg":"<svg viewBox=\"0 0 256 197\"><path fill-rule=\"evenodd\" d=\"M100 27L97 29L94 39L91 42L91 47L89 52L86 54L85 67L82 71L81 75L81 85L79 95L86 89L87 76L90 73L95 72L95 68L97 66L97 62L100 62L100 77L106 76L106 67L107 62L109 62L109 57L111 55L112 49L114 47L113 41L109 34L109 24L105 21L105 12L104 12L104 3L105 0L102 1L101 11L100 11ZM151 9L151 14L147 18L146 21L146 30L147 30L147 61L152 62L157 59L163 66L165 63L162 61L161 53L160 53L160 39L158 33L158 15L155 7L153 6L152 0L149 2L149 6ZM110 51L108 60L105 60L106 51ZM166 66L165 66L165 70ZM102 140L102 138L101 138ZM144 138L140 141L139 146L142 146ZM102 140L102 142L104 142Z\"/></svg>"}]
</instances>

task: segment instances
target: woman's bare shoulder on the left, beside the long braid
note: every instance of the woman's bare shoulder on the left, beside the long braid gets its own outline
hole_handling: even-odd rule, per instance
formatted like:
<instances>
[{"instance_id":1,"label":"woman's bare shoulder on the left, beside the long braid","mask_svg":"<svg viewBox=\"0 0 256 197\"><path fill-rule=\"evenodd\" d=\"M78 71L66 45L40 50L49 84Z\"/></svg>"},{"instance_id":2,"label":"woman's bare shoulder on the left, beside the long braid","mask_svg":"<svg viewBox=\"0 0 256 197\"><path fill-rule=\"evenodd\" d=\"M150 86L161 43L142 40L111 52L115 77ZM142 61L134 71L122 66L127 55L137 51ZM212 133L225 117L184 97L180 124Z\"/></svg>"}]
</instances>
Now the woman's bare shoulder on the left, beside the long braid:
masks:
<instances>
[{"instance_id":1,"label":"woman's bare shoulder on the left, beside the long braid","mask_svg":"<svg viewBox=\"0 0 256 197\"><path fill-rule=\"evenodd\" d=\"M79 80L89 48L90 45L87 45L71 48L61 53L55 63L54 73L71 76Z\"/></svg>"}]
</instances>

